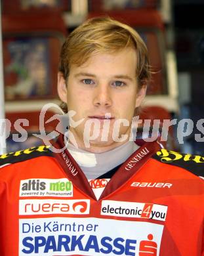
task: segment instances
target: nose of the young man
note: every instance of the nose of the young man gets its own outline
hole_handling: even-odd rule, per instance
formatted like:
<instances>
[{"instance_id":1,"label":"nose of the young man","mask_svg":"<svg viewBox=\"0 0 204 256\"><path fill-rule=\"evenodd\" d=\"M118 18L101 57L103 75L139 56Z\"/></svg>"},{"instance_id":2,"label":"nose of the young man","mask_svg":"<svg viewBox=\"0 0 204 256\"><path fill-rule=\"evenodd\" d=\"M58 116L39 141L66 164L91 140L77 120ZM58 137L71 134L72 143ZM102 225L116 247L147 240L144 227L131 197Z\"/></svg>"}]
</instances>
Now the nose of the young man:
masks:
<instances>
[{"instance_id":1,"label":"nose of the young man","mask_svg":"<svg viewBox=\"0 0 204 256\"><path fill-rule=\"evenodd\" d=\"M94 91L94 106L112 106L112 95L108 85L98 85Z\"/></svg>"}]
</instances>

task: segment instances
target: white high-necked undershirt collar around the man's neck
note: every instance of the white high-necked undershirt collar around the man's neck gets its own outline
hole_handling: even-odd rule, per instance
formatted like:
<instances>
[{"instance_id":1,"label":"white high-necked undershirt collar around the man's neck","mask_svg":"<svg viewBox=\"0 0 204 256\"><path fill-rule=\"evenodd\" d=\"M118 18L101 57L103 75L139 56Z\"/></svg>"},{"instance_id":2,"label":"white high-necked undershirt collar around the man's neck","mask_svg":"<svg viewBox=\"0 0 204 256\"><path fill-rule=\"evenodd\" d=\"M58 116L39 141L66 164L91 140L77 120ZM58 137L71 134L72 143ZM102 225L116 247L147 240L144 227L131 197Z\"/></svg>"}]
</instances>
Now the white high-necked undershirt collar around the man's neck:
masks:
<instances>
[{"instance_id":1,"label":"white high-necked undershirt collar around the man's neck","mask_svg":"<svg viewBox=\"0 0 204 256\"><path fill-rule=\"evenodd\" d=\"M103 153L87 152L80 148L75 148L70 143L68 143L67 148L87 179L96 179L127 160L139 146L133 141L128 141L113 150Z\"/></svg>"}]
</instances>

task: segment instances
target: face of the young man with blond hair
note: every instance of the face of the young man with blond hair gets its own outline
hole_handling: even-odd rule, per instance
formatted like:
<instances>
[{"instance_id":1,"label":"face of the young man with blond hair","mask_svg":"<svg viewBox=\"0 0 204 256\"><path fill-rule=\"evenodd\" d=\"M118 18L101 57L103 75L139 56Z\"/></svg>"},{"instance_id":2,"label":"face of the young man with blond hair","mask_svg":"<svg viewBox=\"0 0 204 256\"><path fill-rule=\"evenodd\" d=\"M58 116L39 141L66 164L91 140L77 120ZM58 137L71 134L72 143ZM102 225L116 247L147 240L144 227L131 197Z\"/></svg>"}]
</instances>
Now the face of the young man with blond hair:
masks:
<instances>
[{"instance_id":1,"label":"face of the young man with blond hair","mask_svg":"<svg viewBox=\"0 0 204 256\"><path fill-rule=\"evenodd\" d=\"M95 54L81 66L72 65L67 85L63 75L58 75L58 93L68 111L76 112L74 121L84 118L77 127L70 127L79 148L85 148L87 140L91 152L119 146L127 140L123 137L118 142L121 135L130 134L134 109L146 93L146 87L138 91L136 51Z\"/></svg>"}]
</instances>

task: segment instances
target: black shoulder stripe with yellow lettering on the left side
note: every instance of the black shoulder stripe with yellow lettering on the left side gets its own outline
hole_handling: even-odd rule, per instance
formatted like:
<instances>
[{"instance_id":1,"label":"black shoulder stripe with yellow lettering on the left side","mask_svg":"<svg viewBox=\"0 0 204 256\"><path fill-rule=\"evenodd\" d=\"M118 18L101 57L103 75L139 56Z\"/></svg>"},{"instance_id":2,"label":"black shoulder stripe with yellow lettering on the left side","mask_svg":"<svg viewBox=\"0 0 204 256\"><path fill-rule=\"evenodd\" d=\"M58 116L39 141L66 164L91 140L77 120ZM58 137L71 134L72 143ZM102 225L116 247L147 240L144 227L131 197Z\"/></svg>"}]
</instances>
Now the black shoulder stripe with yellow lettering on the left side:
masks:
<instances>
[{"instance_id":1,"label":"black shoulder stripe with yellow lettering on the left side","mask_svg":"<svg viewBox=\"0 0 204 256\"><path fill-rule=\"evenodd\" d=\"M0 155L0 167L4 167L10 163L30 160L31 158L37 158L39 156L52 156L52 152L49 150L49 147L50 146L36 146Z\"/></svg>"}]
</instances>

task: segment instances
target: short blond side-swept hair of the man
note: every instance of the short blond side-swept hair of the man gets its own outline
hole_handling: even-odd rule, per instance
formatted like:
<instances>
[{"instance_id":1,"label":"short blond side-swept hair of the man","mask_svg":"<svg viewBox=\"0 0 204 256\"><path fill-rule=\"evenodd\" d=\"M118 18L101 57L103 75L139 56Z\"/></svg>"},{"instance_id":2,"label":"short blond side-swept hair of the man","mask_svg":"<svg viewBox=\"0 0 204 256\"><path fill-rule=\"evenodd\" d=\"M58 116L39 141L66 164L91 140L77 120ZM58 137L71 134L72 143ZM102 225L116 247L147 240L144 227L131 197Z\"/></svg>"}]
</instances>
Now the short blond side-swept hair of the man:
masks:
<instances>
[{"instance_id":1,"label":"short blond side-swept hair of the man","mask_svg":"<svg viewBox=\"0 0 204 256\"><path fill-rule=\"evenodd\" d=\"M140 88L151 76L146 45L133 28L110 17L91 18L70 33L62 45L58 70L67 80L71 65L81 66L92 54L117 53L126 47L136 50L136 77ZM61 107L67 112L66 104Z\"/></svg>"}]
</instances>

